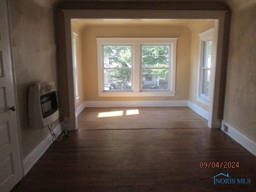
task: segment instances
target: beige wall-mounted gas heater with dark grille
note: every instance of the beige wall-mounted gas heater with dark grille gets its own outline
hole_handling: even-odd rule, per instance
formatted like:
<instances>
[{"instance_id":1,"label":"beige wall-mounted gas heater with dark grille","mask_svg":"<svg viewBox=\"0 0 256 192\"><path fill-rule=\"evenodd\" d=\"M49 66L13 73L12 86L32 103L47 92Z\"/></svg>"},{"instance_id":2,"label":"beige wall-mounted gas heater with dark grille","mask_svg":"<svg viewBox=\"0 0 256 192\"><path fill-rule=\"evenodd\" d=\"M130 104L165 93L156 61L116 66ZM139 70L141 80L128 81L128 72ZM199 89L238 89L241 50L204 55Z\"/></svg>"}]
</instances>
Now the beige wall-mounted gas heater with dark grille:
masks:
<instances>
[{"instance_id":1,"label":"beige wall-mounted gas heater with dark grille","mask_svg":"<svg viewBox=\"0 0 256 192\"><path fill-rule=\"evenodd\" d=\"M44 128L58 117L58 97L54 82L51 80L31 86L28 94L29 126Z\"/></svg>"}]
</instances>

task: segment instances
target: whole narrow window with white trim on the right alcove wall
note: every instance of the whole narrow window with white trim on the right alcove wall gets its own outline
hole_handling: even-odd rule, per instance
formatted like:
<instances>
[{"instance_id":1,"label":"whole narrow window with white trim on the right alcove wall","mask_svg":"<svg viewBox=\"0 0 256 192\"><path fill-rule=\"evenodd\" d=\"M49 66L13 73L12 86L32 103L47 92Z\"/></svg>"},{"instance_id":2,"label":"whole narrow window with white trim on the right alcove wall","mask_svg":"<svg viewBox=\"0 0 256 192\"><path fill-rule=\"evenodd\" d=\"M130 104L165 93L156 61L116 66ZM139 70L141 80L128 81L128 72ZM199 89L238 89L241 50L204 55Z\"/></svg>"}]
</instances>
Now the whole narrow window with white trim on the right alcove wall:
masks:
<instances>
[{"instance_id":1,"label":"whole narrow window with white trim on the right alcove wall","mask_svg":"<svg viewBox=\"0 0 256 192\"><path fill-rule=\"evenodd\" d=\"M214 28L199 34L200 53L198 70L198 94L196 100L209 106L212 37Z\"/></svg>"}]
</instances>

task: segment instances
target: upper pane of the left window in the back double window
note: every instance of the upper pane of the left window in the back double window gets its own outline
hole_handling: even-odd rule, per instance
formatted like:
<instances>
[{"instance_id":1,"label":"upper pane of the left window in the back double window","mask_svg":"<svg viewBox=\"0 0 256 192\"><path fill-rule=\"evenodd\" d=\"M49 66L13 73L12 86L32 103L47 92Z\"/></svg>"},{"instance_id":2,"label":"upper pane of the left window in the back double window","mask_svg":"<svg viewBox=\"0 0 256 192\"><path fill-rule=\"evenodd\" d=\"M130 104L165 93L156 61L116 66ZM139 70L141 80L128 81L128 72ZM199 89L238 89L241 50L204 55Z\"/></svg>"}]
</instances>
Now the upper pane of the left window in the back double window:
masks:
<instances>
[{"instance_id":1,"label":"upper pane of the left window in the back double window","mask_svg":"<svg viewBox=\"0 0 256 192\"><path fill-rule=\"evenodd\" d=\"M132 46L103 46L104 67L132 67Z\"/></svg>"}]
</instances>

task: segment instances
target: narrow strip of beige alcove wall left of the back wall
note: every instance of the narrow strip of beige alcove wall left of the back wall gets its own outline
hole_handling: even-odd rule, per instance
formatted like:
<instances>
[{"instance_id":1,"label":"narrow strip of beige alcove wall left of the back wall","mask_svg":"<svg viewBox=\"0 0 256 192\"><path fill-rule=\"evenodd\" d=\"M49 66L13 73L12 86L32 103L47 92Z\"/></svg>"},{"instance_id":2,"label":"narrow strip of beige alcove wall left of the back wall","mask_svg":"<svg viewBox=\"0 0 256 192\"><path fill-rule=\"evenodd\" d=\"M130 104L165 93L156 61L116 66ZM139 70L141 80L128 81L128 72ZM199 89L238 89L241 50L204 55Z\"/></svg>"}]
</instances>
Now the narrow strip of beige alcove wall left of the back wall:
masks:
<instances>
[{"instance_id":1,"label":"narrow strip of beige alcove wall left of the back wall","mask_svg":"<svg viewBox=\"0 0 256 192\"><path fill-rule=\"evenodd\" d=\"M79 102L76 107L80 106L84 101L84 68L82 65L82 31L76 22L72 22L72 30L78 36L76 37L76 57L77 57L77 71L78 71L78 96Z\"/></svg>"}]
</instances>

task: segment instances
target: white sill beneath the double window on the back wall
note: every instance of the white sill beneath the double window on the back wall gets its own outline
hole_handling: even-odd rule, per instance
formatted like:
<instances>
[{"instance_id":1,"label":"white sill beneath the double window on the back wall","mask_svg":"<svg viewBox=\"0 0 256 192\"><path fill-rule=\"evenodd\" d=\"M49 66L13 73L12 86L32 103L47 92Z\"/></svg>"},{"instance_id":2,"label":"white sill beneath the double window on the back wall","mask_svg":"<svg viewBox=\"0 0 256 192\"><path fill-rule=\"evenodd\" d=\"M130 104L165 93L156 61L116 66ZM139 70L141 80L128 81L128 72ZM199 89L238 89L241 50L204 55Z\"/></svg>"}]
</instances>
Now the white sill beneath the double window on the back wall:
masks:
<instances>
[{"instance_id":1,"label":"white sill beneath the double window on the back wall","mask_svg":"<svg viewBox=\"0 0 256 192\"><path fill-rule=\"evenodd\" d=\"M175 92L98 92L99 97L174 97Z\"/></svg>"}]
</instances>

